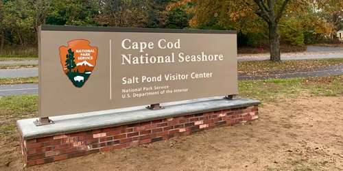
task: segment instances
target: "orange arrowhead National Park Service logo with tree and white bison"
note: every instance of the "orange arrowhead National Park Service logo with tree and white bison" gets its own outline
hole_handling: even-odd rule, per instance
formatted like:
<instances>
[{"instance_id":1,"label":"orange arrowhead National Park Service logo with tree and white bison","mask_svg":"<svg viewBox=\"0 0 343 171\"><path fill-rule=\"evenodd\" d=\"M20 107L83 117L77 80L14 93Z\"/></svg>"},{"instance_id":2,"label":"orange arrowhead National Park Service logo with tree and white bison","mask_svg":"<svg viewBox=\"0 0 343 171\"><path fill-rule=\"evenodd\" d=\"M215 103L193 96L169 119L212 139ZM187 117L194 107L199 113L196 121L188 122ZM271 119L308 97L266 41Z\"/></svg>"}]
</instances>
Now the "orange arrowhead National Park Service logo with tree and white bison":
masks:
<instances>
[{"instance_id":1,"label":"orange arrowhead National Park Service logo with tree and white bison","mask_svg":"<svg viewBox=\"0 0 343 171\"><path fill-rule=\"evenodd\" d=\"M91 47L90 43L77 39L69 41L67 47L60 47L63 72L77 88L84 86L97 64L97 47Z\"/></svg>"}]
</instances>

